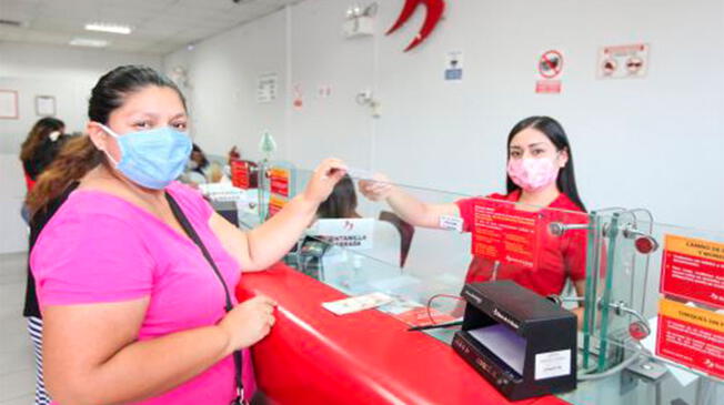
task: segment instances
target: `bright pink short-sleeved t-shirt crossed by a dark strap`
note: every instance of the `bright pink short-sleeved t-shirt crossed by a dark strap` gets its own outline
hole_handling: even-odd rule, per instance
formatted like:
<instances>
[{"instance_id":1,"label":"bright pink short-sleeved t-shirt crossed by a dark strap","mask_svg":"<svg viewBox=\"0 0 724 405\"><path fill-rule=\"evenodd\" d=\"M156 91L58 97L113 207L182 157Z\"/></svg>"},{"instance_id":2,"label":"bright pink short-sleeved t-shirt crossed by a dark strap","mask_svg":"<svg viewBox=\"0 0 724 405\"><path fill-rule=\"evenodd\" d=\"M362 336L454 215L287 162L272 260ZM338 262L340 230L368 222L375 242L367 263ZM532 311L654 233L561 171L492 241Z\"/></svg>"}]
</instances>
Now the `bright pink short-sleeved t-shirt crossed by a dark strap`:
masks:
<instances>
[{"instance_id":1,"label":"bright pink short-sleeved t-shirt crossed by a dark strap","mask_svg":"<svg viewBox=\"0 0 724 405\"><path fill-rule=\"evenodd\" d=\"M209 226L212 207L183 184L174 182L167 191L211 253L235 304L233 292L241 271ZM30 265L41 310L148 296L139 341L213 325L224 315L223 287L199 247L149 212L108 193L72 192L41 232ZM171 358L173 353L168 355ZM250 397L255 386L249 351L243 353L243 379ZM234 394L234 365L229 356L141 403L228 405Z\"/></svg>"}]
</instances>

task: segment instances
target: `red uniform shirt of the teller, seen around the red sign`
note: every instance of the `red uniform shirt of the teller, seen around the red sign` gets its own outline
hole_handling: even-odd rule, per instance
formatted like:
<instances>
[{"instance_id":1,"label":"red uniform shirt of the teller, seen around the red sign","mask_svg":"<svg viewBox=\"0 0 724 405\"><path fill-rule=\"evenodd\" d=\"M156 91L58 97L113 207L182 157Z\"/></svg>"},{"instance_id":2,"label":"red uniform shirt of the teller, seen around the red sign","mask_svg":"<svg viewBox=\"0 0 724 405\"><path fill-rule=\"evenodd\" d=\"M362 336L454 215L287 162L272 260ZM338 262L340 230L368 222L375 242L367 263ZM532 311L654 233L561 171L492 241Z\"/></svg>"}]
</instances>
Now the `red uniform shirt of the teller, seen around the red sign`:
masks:
<instances>
[{"instance_id":1,"label":"red uniform shirt of the teller, seen around the red sign","mask_svg":"<svg viewBox=\"0 0 724 405\"><path fill-rule=\"evenodd\" d=\"M519 190L507 195L491 194L487 199L516 202L520 196L521 192ZM455 202L464 221L463 230L465 232L471 232L474 224L475 200L464 199ZM547 209L554 210L542 210L540 212L542 217L539 221L543 223L540 227L542 235L539 239L537 265L527 269L519 264L503 263L500 265L496 275L497 280L513 280L543 296L560 294L563 291L566 277L571 277L574 282L584 280L586 269L586 231L570 230L564 232L563 235L556 236L549 231L547 224L551 222L565 224L587 223L587 215L563 193ZM467 269L465 283L490 281L492 275L493 261L473 257Z\"/></svg>"}]
</instances>

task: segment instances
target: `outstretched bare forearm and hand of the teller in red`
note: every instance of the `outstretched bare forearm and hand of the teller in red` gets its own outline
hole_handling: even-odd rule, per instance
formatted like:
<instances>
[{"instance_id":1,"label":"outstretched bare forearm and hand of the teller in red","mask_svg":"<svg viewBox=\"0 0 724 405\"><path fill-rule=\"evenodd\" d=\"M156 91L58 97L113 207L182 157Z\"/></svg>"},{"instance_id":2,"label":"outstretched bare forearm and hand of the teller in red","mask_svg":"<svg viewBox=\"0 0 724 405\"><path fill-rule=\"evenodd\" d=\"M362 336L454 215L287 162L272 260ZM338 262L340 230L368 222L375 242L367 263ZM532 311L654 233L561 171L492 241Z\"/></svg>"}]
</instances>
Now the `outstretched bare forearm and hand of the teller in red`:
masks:
<instances>
[{"instance_id":1,"label":"outstretched bare forearm and hand of the teller in red","mask_svg":"<svg viewBox=\"0 0 724 405\"><path fill-rule=\"evenodd\" d=\"M392 185L383 175L375 175L375 180L361 180L360 192L372 201L386 200L402 220L414 226L440 227L440 216L460 216L454 203L429 204Z\"/></svg>"}]
</instances>

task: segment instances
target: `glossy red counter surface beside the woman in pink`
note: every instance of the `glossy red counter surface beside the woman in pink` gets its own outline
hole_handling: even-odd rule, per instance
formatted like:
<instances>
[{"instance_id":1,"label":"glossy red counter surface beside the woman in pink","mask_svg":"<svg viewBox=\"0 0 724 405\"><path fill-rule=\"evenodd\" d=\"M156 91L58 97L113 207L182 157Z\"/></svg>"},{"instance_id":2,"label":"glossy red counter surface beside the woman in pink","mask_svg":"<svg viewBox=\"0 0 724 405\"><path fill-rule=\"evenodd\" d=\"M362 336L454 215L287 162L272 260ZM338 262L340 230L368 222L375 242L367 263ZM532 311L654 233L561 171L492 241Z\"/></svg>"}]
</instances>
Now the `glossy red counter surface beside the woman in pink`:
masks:
<instances>
[{"instance_id":1,"label":"glossy red counter surface beside the woman in pink","mask_svg":"<svg viewBox=\"0 0 724 405\"><path fill-rule=\"evenodd\" d=\"M346 295L283 264L244 273L237 296L279 303L252 355L278 404L509 404L446 344L375 310L338 316L320 304ZM514 404L566 404L554 396Z\"/></svg>"}]
</instances>

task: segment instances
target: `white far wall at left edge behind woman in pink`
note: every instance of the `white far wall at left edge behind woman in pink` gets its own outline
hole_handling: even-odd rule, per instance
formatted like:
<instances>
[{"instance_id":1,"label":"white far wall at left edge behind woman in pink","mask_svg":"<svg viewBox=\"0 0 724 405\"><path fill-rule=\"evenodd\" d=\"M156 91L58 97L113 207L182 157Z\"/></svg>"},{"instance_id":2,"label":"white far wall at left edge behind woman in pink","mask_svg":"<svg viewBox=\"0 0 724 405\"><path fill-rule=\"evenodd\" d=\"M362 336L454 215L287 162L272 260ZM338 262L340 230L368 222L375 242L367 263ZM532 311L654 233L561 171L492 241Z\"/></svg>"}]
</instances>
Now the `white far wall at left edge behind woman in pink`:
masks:
<instances>
[{"instance_id":1,"label":"white far wall at left edge behind woman in pink","mask_svg":"<svg viewBox=\"0 0 724 405\"><path fill-rule=\"evenodd\" d=\"M54 95L57 115L68 132L82 131L88 99L98 79L121 64L161 68L158 55L132 54L69 47L0 42L0 89L18 91L19 119L0 120L0 253L27 249L20 219L24 182L18 154L33 123L36 95Z\"/></svg>"}]
</instances>

